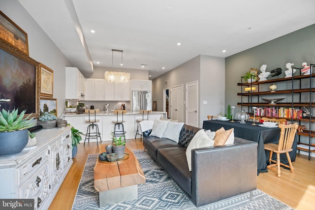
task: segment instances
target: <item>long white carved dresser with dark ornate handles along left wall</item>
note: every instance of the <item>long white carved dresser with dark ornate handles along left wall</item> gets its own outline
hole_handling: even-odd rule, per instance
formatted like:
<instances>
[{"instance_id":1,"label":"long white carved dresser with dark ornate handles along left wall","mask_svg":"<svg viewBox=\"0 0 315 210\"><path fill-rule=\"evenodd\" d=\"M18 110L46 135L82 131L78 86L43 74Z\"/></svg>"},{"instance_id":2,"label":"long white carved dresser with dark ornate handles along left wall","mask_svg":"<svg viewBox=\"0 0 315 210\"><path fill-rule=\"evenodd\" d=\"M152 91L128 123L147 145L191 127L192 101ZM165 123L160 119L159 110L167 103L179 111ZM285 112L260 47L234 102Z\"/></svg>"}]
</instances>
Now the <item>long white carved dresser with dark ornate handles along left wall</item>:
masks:
<instances>
[{"instance_id":1,"label":"long white carved dresser with dark ornate handles along left wall","mask_svg":"<svg viewBox=\"0 0 315 210\"><path fill-rule=\"evenodd\" d=\"M36 132L37 145L0 156L0 198L34 199L46 210L72 165L71 126Z\"/></svg>"}]
</instances>

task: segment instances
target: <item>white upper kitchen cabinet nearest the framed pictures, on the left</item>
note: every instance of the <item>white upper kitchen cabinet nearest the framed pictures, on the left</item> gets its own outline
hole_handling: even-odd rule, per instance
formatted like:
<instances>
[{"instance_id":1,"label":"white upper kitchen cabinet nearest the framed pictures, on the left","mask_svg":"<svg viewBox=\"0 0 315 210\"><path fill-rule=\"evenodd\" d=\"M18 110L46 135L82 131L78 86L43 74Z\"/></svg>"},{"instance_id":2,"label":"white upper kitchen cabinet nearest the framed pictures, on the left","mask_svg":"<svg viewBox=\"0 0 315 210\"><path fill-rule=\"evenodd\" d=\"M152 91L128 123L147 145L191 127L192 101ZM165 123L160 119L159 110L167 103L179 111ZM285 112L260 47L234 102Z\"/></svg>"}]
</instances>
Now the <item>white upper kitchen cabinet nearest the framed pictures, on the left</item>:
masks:
<instances>
[{"instance_id":1,"label":"white upper kitchen cabinet nearest the framed pictures, on the left","mask_svg":"<svg viewBox=\"0 0 315 210\"><path fill-rule=\"evenodd\" d=\"M82 73L75 67L65 67L65 99L81 99ZM85 92L85 90L84 90Z\"/></svg>"}]
</instances>

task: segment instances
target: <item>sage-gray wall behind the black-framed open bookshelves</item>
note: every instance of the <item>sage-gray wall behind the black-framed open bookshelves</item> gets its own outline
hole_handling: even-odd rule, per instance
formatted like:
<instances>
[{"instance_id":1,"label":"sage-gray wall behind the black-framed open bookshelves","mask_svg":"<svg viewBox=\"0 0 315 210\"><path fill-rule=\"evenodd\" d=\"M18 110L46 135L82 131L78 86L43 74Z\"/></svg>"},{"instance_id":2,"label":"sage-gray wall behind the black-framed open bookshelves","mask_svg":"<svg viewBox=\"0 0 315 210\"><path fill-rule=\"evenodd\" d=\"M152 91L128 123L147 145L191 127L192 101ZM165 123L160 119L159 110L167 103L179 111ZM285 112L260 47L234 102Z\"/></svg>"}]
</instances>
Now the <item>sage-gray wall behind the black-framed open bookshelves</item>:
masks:
<instances>
[{"instance_id":1,"label":"sage-gray wall behind the black-framed open bookshelves","mask_svg":"<svg viewBox=\"0 0 315 210\"><path fill-rule=\"evenodd\" d=\"M237 102L241 101L241 96L237 95L237 93L241 91L241 86L237 86L237 83L240 82L241 75L251 67L259 69L262 64L267 64L267 71L281 67L282 75L280 75L279 78L283 78L285 77L284 71L286 70L285 64L287 62L294 63L294 67L297 68L302 68L302 62L315 64L315 25L294 31L225 58L225 104L234 105L236 107L234 114L241 110L241 107L237 106ZM260 71L258 74L259 73ZM299 72L296 72L294 75L299 75ZM267 79L272 78L273 77L269 76ZM283 90L281 88L291 88L288 82L277 83L276 85L278 86L278 90ZM302 88L303 86L309 87L309 83L303 80ZM268 91L268 87L264 87L264 89L265 90L260 91ZM280 95L276 96L279 97ZM284 97L286 97L285 100L290 101L290 96L284 95ZM313 96L313 101L314 97L315 96ZM303 95L302 100L303 98L306 99L308 96ZM301 124L306 123L301 122ZM306 125L309 127L308 124ZM315 129L314 123L312 129ZM305 137L301 137L301 140L302 142L308 142L308 138L306 139Z\"/></svg>"}]
</instances>

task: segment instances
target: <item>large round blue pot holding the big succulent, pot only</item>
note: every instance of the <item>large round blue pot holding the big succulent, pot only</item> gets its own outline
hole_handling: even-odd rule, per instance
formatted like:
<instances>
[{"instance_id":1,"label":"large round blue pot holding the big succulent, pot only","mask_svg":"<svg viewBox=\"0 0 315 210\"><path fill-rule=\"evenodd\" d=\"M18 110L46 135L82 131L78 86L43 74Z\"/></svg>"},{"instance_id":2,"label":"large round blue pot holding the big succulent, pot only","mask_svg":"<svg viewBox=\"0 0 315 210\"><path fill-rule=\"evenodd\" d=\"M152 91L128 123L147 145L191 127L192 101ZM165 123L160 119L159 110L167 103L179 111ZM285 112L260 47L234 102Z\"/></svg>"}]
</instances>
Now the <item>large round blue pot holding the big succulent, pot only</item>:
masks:
<instances>
[{"instance_id":1,"label":"large round blue pot holding the big succulent, pot only","mask_svg":"<svg viewBox=\"0 0 315 210\"><path fill-rule=\"evenodd\" d=\"M28 130L0 132L0 156L20 153L28 144Z\"/></svg>"}]
</instances>

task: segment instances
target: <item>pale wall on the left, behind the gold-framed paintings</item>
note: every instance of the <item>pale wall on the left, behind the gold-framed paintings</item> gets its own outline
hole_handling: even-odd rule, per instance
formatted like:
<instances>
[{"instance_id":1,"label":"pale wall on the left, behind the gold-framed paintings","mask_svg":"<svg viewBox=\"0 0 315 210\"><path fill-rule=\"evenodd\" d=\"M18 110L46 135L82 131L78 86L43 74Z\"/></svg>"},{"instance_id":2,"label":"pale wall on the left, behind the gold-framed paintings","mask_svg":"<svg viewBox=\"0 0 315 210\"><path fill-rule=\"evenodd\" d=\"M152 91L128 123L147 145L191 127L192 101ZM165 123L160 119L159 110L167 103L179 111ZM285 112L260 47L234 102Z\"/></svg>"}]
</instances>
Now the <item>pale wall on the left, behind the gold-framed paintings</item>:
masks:
<instances>
[{"instance_id":1,"label":"pale wall on the left, behind the gold-framed paintings","mask_svg":"<svg viewBox=\"0 0 315 210\"><path fill-rule=\"evenodd\" d=\"M29 56L54 71L53 98L57 99L58 115L62 114L65 102L65 66L72 66L47 34L32 19L32 16L16 0L1 0L1 11L28 34Z\"/></svg>"}]
</instances>

